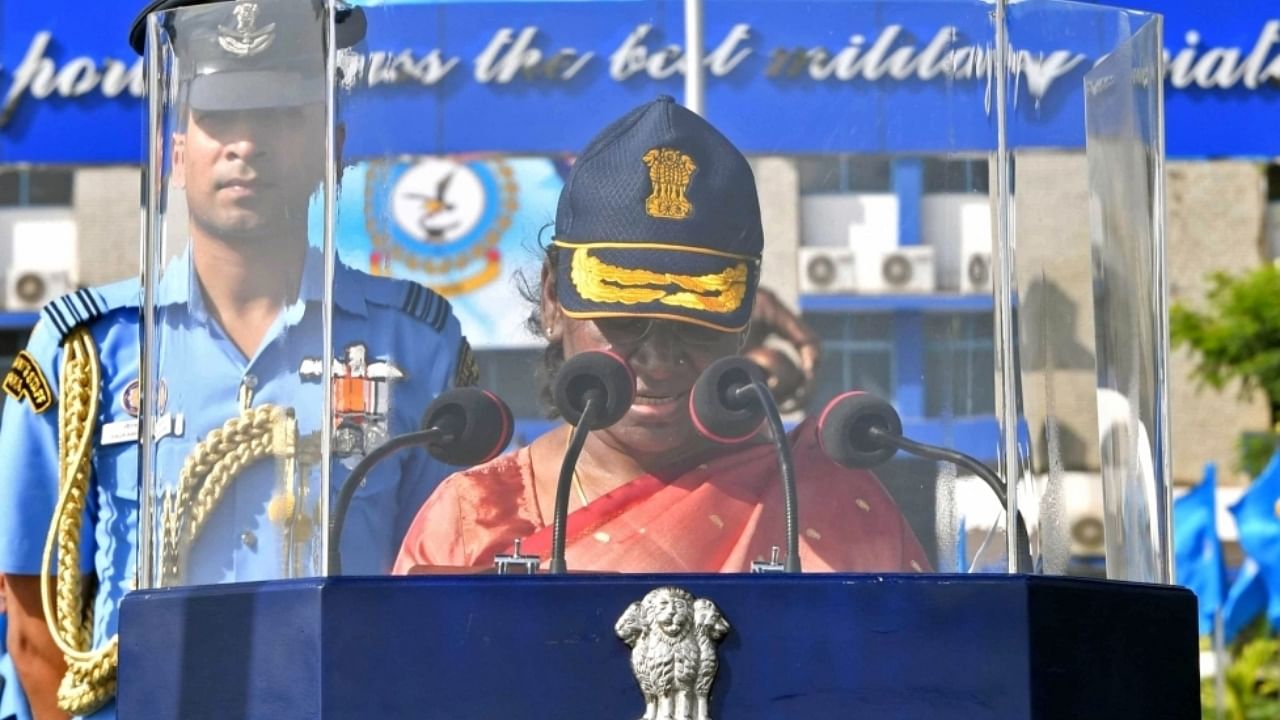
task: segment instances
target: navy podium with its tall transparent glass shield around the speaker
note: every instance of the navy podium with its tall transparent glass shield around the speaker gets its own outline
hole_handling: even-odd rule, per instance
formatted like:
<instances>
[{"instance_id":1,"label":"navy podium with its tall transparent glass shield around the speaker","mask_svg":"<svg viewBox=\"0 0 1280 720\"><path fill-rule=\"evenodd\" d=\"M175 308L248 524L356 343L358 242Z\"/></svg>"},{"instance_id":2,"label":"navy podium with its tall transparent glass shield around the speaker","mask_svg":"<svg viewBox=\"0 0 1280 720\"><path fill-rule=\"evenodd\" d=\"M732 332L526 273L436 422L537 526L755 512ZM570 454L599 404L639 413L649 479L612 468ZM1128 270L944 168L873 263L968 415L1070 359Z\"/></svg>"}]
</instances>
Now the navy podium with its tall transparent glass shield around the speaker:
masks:
<instances>
[{"instance_id":1,"label":"navy podium with its tall transparent glass shield around the speaker","mask_svg":"<svg viewBox=\"0 0 1280 720\"><path fill-rule=\"evenodd\" d=\"M237 0L147 33L122 717L1197 715L1158 15ZM547 307L566 278L722 300L559 222L579 173L609 197L593 136L662 95L750 163L755 313L721 355L781 411L724 442L690 400L710 361L653 370L618 314L566 314L698 459L620 477L593 448L632 436L556 411L579 351ZM735 219L698 195L723 161L655 145L614 173L650 217ZM677 315L639 322L672 356L717 342ZM655 689L663 652L691 655Z\"/></svg>"}]
</instances>

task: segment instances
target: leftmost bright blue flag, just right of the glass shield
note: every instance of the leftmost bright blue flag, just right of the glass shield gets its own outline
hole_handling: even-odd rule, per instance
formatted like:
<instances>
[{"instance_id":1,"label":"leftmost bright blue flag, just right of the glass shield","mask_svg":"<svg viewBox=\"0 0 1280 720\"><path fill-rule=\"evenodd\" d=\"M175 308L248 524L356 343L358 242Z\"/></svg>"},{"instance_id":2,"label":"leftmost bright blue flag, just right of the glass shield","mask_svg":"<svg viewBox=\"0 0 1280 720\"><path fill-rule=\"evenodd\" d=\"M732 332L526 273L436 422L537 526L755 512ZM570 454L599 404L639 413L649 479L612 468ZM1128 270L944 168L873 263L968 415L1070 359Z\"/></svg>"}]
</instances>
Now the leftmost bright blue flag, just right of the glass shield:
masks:
<instances>
[{"instance_id":1,"label":"leftmost bright blue flag, just right of the glass shield","mask_svg":"<svg viewBox=\"0 0 1280 720\"><path fill-rule=\"evenodd\" d=\"M1226 597L1226 568L1222 565L1222 543L1217 539L1216 506L1217 469L1204 468L1204 479L1196 489L1174 502L1174 561L1178 584L1185 585L1199 600L1201 634L1213 632L1213 614L1222 609Z\"/></svg>"}]
</instances>

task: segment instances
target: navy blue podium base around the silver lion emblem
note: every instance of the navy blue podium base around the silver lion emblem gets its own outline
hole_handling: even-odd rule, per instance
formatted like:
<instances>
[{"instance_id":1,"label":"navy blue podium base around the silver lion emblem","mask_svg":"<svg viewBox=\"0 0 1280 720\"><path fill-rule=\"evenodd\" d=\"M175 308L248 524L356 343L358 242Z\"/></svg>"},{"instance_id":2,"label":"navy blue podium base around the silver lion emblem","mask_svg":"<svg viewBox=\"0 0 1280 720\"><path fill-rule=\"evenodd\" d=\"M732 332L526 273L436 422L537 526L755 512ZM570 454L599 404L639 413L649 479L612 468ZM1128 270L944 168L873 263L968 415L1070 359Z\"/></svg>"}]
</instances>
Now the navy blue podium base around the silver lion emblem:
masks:
<instances>
[{"instance_id":1,"label":"navy blue podium base around the silver lion emblem","mask_svg":"<svg viewBox=\"0 0 1280 720\"><path fill-rule=\"evenodd\" d=\"M635 720L636 600L732 625L717 720L1198 720L1196 598L1001 575L320 578L145 591L120 610L122 720Z\"/></svg>"}]
</instances>

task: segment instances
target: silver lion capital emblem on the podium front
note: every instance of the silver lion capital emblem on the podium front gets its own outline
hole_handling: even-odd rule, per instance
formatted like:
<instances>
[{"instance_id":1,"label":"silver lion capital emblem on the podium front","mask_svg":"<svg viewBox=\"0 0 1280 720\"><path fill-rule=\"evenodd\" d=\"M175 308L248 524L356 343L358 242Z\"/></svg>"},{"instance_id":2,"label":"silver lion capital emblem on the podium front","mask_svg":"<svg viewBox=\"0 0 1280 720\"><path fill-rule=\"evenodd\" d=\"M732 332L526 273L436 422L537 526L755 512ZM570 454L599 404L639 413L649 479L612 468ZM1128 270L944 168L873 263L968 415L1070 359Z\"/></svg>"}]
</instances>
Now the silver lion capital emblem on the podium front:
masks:
<instances>
[{"instance_id":1,"label":"silver lion capital emblem on the podium front","mask_svg":"<svg viewBox=\"0 0 1280 720\"><path fill-rule=\"evenodd\" d=\"M641 720L710 720L716 643L730 630L716 603L658 588L632 602L613 629L631 647L631 671L644 694Z\"/></svg>"}]
</instances>

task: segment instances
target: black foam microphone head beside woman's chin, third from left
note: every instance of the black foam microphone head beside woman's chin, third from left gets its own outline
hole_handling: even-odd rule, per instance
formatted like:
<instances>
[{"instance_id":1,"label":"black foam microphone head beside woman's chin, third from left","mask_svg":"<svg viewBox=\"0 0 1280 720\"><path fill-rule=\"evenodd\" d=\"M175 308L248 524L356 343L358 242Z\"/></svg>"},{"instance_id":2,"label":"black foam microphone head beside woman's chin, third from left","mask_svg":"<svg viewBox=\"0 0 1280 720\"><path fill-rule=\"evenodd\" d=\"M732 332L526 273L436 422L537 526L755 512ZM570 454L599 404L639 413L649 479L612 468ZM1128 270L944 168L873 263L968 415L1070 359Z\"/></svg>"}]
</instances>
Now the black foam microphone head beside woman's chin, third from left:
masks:
<instances>
[{"instance_id":1,"label":"black foam microphone head beside woman's chin, third from left","mask_svg":"<svg viewBox=\"0 0 1280 720\"><path fill-rule=\"evenodd\" d=\"M759 432L764 407L756 396L737 397L737 391L763 383L764 373L746 357L721 357L703 370L689 393L689 414L694 428L716 442L742 442Z\"/></svg>"}]
</instances>

